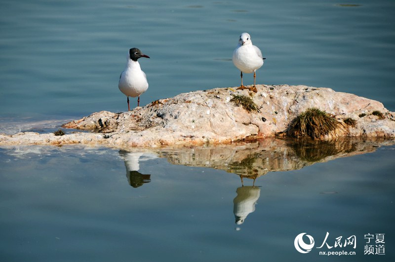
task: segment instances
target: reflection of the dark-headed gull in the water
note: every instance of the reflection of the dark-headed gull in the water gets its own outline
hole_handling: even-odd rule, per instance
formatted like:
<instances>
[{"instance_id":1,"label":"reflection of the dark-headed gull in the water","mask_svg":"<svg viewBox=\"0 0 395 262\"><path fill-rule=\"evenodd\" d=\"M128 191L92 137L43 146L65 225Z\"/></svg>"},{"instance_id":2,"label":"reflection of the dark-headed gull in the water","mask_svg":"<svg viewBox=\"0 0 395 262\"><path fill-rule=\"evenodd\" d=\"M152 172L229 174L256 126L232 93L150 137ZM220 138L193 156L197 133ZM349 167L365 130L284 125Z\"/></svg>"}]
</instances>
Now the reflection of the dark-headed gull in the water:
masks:
<instances>
[{"instance_id":1,"label":"reflection of the dark-headed gull in the water","mask_svg":"<svg viewBox=\"0 0 395 262\"><path fill-rule=\"evenodd\" d=\"M142 152L127 152L120 150L119 155L125 162L126 177L129 185L136 188L151 182L151 175L144 175L138 172L140 170L139 159L143 155Z\"/></svg>"}]
</instances>

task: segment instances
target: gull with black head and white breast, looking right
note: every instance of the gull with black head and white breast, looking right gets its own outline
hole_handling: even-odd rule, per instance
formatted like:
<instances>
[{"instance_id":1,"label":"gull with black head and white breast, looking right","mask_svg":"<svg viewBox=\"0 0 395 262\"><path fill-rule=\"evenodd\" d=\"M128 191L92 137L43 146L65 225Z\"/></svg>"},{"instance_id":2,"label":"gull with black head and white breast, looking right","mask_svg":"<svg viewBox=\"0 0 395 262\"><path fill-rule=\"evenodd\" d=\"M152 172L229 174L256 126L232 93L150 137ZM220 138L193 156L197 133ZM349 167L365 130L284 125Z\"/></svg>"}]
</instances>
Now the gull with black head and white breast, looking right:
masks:
<instances>
[{"instance_id":1,"label":"gull with black head and white breast, looking right","mask_svg":"<svg viewBox=\"0 0 395 262\"><path fill-rule=\"evenodd\" d=\"M125 70L119 76L118 88L127 96L128 111L130 111L129 96L138 96L137 106L140 106L140 95L148 89L147 76L141 70L137 61L140 57L150 58L148 55L143 54L140 49L130 48Z\"/></svg>"}]
</instances>

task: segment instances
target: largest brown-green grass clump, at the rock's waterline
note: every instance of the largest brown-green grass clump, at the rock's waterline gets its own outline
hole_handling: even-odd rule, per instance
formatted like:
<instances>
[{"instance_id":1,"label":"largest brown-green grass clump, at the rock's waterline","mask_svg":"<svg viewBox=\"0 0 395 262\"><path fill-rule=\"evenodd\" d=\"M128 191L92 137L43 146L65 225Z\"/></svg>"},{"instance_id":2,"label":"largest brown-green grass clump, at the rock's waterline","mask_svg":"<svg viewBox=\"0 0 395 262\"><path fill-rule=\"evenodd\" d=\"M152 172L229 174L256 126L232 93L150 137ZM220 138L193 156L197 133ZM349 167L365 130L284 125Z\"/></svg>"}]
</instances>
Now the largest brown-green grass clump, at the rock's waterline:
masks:
<instances>
[{"instance_id":1,"label":"largest brown-green grass clump, at the rock's waterline","mask_svg":"<svg viewBox=\"0 0 395 262\"><path fill-rule=\"evenodd\" d=\"M318 108L309 108L297 116L289 125L287 134L296 137L320 138L334 132L339 123L334 117Z\"/></svg>"}]
</instances>

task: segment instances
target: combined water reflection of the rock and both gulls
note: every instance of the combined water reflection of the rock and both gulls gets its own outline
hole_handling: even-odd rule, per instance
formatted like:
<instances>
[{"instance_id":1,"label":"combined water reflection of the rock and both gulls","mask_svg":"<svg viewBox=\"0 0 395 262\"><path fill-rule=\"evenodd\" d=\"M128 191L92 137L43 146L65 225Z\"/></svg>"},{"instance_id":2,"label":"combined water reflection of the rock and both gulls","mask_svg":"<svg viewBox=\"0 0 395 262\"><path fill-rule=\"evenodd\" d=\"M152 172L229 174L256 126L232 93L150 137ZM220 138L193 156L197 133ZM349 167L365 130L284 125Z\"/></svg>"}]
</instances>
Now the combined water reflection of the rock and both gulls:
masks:
<instances>
[{"instance_id":1,"label":"combined water reflection of the rock and both gulls","mask_svg":"<svg viewBox=\"0 0 395 262\"><path fill-rule=\"evenodd\" d=\"M156 155L120 150L119 155L125 162L126 176L133 187L151 181L150 175L138 172L139 162L156 157L164 157L174 165L214 168L238 175L242 186L237 188L233 212L236 224L240 225L255 211L261 191L255 186L255 179L259 176L269 172L302 169L316 162L374 152L382 145L392 144L394 142L391 140L363 141L351 138L332 141L264 139L212 147L160 149ZM243 178L253 179L253 185L244 186Z\"/></svg>"}]
</instances>

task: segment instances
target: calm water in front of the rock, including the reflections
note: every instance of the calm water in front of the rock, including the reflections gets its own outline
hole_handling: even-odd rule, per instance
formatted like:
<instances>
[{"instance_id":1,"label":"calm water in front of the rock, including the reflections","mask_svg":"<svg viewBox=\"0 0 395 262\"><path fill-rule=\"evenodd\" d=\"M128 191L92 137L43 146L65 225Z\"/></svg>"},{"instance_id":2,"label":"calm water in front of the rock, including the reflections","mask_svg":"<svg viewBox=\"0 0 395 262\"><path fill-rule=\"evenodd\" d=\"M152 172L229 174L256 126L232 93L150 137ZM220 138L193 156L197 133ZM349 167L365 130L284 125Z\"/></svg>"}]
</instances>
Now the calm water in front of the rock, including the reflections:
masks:
<instances>
[{"instance_id":1,"label":"calm water in front of the rock, including the reflections","mask_svg":"<svg viewBox=\"0 0 395 262\"><path fill-rule=\"evenodd\" d=\"M2 148L1 261L394 259L395 146L270 147ZM354 235L332 250L356 255L300 254L303 232L315 247ZM364 255L365 234L385 234L386 255Z\"/></svg>"}]
</instances>

